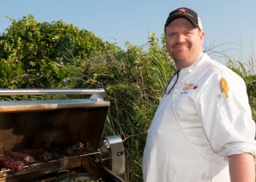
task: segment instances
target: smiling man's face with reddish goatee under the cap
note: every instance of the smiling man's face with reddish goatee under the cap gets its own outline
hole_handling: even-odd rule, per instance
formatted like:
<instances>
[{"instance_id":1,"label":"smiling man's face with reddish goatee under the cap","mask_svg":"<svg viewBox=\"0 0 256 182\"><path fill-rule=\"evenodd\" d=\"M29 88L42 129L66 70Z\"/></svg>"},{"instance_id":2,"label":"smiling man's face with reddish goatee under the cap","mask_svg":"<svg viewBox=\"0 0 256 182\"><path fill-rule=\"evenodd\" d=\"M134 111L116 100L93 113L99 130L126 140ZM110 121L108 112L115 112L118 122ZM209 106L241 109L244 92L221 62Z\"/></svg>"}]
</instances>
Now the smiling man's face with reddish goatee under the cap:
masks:
<instances>
[{"instance_id":1,"label":"smiling man's face with reddish goatee under the cap","mask_svg":"<svg viewBox=\"0 0 256 182\"><path fill-rule=\"evenodd\" d=\"M177 67L191 66L202 52L204 32L195 28L189 20L180 17L165 28L165 41L170 57Z\"/></svg>"}]
</instances>

